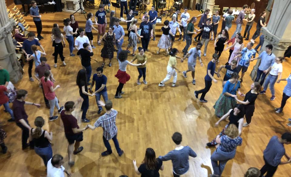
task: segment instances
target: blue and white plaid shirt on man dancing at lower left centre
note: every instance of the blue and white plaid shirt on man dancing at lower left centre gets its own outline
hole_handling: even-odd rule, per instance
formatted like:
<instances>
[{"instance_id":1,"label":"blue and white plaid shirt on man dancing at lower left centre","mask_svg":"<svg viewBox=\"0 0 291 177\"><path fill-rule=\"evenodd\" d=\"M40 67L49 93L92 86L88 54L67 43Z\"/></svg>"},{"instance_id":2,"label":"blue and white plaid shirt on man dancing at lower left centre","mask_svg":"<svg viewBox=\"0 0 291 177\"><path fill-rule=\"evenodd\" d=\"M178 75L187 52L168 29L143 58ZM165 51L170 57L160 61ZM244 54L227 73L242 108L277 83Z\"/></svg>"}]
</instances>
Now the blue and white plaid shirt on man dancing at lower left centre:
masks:
<instances>
[{"instance_id":1,"label":"blue and white plaid shirt on man dancing at lower left centre","mask_svg":"<svg viewBox=\"0 0 291 177\"><path fill-rule=\"evenodd\" d=\"M110 140L117 134L117 127L115 124L117 111L113 110L109 114L105 113L94 123L95 127L103 128L103 136Z\"/></svg>"}]
</instances>

